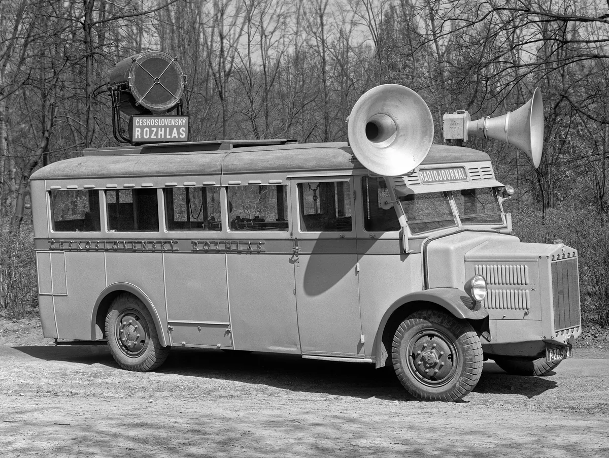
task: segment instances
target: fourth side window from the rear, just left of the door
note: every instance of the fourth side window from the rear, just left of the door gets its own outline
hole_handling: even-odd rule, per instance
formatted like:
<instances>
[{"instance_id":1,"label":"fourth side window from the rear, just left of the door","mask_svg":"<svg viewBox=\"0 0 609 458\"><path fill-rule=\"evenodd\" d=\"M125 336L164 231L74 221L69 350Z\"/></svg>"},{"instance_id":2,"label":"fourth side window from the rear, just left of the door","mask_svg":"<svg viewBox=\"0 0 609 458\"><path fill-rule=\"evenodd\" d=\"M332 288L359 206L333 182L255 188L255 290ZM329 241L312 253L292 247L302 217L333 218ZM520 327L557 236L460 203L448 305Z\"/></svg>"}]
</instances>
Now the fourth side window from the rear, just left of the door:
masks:
<instances>
[{"instance_id":1,"label":"fourth side window from the rear, just left of the door","mask_svg":"<svg viewBox=\"0 0 609 458\"><path fill-rule=\"evenodd\" d=\"M287 231L287 186L228 186L231 231Z\"/></svg>"}]
</instances>

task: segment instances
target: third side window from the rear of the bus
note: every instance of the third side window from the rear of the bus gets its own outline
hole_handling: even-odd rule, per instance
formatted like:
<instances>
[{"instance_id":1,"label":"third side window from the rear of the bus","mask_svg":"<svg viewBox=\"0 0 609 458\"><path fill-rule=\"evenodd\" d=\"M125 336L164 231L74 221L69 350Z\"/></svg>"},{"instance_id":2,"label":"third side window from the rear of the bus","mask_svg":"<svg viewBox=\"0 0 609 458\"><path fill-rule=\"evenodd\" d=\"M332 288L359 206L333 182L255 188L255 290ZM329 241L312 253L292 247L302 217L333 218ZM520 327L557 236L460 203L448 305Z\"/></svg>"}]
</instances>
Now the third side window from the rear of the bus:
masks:
<instances>
[{"instance_id":1,"label":"third side window from the rear of the bus","mask_svg":"<svg viewBox=\"0 0 609 458\"><path fill-rule=\"evenodd\" d=\"M166 188L165 222L169 231L220 231L220 186Z\"/></svg>"}]
</instances>

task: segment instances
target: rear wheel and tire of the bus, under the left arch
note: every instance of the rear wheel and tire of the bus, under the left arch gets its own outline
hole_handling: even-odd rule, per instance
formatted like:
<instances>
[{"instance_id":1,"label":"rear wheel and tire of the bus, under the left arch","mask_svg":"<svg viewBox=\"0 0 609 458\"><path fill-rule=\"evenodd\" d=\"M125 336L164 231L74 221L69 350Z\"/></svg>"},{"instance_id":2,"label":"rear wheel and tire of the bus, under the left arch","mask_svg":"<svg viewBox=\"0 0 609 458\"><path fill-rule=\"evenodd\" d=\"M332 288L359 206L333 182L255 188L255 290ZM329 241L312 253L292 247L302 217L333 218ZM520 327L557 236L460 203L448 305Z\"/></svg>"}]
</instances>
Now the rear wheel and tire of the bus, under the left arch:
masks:
<instances>
[{"instance_id":1,"label":"rear wheel and tire of the bus, under the left arch","mask_svg":"<svg viewBox=\"0 0 609 458\"><path fill-rule=\"evenodd\" d=\"M121 294L112 301L106 315L106 336L114 361L125 370L155 370L169 354L169 347L160 344L152 315L132 294Z\"/></svg>"}]
</instances>

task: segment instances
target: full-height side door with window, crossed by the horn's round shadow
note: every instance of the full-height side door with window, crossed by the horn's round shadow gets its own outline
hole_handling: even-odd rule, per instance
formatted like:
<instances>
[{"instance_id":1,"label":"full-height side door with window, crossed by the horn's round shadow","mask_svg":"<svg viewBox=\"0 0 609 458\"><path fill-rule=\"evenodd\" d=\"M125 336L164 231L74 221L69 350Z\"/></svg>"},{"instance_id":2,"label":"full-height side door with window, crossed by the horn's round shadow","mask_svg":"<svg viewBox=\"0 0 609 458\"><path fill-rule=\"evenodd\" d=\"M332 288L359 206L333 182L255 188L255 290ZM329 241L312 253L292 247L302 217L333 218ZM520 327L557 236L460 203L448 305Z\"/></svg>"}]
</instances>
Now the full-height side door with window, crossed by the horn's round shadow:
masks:
<instances>
[{"instance_id":1,"label":"full-height side door with window, crossed by the horn's round shadow","mask_svg":"<svg viewBox=\"0 0 609 458\"><path fill-rule=\"evenodd\" d=\"M305 178L290 186L302 353L363 358L353 180Z\"/></svg>"}]
</instances>

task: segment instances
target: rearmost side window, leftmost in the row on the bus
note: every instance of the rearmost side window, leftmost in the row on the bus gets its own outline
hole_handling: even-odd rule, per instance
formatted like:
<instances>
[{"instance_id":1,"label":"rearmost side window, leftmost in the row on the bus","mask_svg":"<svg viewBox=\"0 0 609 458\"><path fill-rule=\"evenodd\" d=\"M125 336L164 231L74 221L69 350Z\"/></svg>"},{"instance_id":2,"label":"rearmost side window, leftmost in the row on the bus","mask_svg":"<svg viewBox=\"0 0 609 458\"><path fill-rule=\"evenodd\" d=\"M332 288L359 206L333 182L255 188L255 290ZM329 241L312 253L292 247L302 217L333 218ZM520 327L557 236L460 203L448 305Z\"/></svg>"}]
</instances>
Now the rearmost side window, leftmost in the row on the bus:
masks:
<instances>
[{"instance_id":1,"label":"rearmost side window, leftmost in the row on the bus","mask_svg":"<svg viewBox=\"0 0 609 458\"><path fill-rule=\"evenodd\" d=\"M99 191L51 191L52 230L99 232Z\"/></svg>"}]
</instances>

